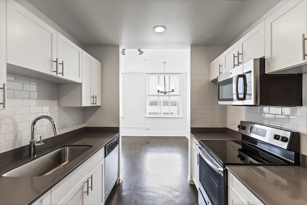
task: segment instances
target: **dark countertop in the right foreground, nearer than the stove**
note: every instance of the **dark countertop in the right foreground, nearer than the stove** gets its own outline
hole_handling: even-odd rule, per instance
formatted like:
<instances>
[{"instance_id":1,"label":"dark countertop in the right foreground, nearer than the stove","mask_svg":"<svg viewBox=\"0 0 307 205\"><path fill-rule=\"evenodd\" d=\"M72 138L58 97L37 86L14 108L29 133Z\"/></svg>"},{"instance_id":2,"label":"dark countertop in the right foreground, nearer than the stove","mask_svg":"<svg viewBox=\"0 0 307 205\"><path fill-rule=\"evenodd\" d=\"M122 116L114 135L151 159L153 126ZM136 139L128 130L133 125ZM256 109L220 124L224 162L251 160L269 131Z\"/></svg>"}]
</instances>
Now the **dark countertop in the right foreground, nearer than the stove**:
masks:
<instances>
[{"instance_id":1,"label":"dark countertop in the right foreground, nearer than the stove","mask_svg":"<svg viewBox=\"0 0 307 205\"><path fill-rule=\"evenodd\" d=\"M227 166L264 204L306 205L307 169L299 166Z\"/></svg>"}]
</instances>

